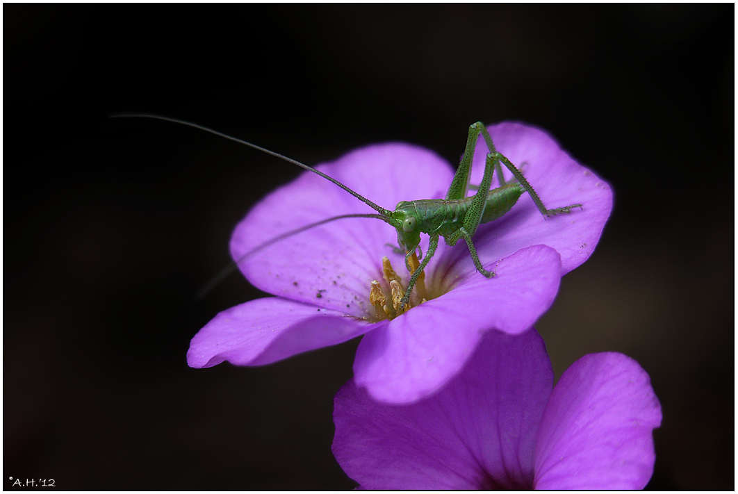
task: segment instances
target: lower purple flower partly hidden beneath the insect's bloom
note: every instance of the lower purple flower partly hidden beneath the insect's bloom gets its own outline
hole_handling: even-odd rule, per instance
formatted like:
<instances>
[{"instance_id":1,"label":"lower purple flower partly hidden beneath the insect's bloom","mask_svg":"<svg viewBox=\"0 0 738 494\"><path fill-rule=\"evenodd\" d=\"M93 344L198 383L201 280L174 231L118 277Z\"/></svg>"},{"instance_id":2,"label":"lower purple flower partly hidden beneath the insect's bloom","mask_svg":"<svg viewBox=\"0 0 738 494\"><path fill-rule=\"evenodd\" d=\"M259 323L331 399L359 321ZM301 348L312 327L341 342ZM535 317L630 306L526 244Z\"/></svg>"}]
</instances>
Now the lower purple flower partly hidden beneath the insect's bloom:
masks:
<instances>
[{"instance_id":1,"label":"lower purple flower partly hidden beneath the insect's bloom","mask_svg":"<svg viewBox=\"0 0 738 494\"><path fill-rule=\"evenodd\" d=\"M489 331L461 374L420 402L379 403L349 381L332 449L366 489L643 488L661 425L646 371L623 354L588 354L553 383L534 329Z\"/></svg>"}]
</instances>

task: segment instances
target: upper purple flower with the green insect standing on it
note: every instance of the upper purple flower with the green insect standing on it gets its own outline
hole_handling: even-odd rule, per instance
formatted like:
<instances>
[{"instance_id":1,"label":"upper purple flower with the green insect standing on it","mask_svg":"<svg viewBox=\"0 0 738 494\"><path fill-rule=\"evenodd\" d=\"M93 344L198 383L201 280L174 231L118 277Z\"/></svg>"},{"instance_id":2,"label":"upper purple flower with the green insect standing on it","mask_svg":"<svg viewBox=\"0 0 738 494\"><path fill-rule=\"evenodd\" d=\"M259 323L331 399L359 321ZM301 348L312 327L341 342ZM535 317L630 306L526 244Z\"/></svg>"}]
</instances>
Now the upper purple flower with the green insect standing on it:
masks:
<instances>
[{"instance_id":1,"label":"upper purple flower with the green insect standing on it","mask_svg":"<svg viewBox=\"0 0 738 494\"><path fill-rule=\"evenodd\" d=\"M510 334L528 329L551 305L561 275L593 252L613 197L605 182L538 128L500 123L489 131L498 151L520 165L547 207L577 202L583 209L544 219L523 194L506 216L481 224L474 242L482 264L497 272L492 279L476 272L463 241L455 247L441 241L425 270L427 301L418 305L416 300L393 318L391 308L384 315L382 301L370 300L377 281L374 295L384 295L385 305L392 305L385 256L407 283L404 255L387 245L397 239L390 225L339 219L285 236L333 216L372 212L306 172L258 203L231 239L232 257L246 278L277 297L215 316L193 338L189 365L203 368L227 360L259 366L365 335L354 362L356 382L376 399L411 402L457 374L486 329ZM479 182L485 149L480 140L472 183ZM361 148L317 168L387 208L401 200L444 197L454 174L431 151L399 143ZM423 237L421 248L427 252Z\"/></svg>"}]
</instances>

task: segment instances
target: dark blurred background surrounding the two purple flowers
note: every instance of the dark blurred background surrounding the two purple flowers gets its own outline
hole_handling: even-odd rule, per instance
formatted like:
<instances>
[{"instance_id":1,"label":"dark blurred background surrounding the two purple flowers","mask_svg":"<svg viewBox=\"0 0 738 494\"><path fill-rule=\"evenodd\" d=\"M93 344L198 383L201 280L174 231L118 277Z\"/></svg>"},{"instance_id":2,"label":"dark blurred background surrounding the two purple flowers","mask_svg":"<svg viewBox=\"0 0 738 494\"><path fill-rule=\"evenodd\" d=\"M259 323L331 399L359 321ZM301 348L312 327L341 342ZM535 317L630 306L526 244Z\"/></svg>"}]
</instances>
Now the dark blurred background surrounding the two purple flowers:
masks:
<instances>
[{"instance_id":1,"label":"dark blurred background surrounding the two purple flowers","mask_svg":"<svg viewBox=\"0 0 738 494\"><path fill-rule=\"evenodd\" d=\"M649 487L734 488L732 4L3 13L6 488L354 487L330 445L357 341L263 368L185 360L217 312L262 296L238 273L195 294L236 222L300 171L107 118L128 111L308 164L385 140L457 162L476 120L548 129L615 191L537 324L556 375L634 357L663 406Z\"/></svg>"}]
</instances>

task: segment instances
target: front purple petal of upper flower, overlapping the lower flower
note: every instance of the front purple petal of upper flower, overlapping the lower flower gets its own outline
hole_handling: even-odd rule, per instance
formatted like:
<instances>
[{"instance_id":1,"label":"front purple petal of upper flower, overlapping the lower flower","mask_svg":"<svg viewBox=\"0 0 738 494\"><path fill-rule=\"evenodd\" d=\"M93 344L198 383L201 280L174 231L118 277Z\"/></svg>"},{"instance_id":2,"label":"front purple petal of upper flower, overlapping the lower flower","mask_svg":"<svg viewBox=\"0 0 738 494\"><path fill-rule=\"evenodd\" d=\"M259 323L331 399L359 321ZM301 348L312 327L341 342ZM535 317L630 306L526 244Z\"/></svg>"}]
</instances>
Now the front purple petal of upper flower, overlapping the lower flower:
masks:
<instances>
[{"instance_id":1,"label":"front purple petal of upper flower, overlapping the lower flower","mask_svg":"<svg viewBox=\"0 0 738 494\"><path fill-rule=\"evenodd\" d=\"M488 267L497 276L472 273L450 292L366 335L354 360L356 383L383 402L427 397L458 374L488 329L525 331L559 289L559 255L545 245Z\"/></svg>"}]
</instances>

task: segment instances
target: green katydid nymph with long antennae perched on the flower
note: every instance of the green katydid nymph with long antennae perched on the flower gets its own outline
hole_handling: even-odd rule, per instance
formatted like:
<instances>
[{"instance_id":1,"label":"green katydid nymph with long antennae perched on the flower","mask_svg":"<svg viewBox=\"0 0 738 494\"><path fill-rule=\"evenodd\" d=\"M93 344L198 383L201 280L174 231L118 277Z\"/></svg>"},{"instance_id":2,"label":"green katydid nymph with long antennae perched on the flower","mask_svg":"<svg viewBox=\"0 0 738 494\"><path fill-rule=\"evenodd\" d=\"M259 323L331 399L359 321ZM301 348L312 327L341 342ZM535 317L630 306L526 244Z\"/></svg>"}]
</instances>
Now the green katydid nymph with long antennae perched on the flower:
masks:
<instances>
[{"instance_id":1,"label":"green katydid nymph with long antennae perched on the flower","mask_svg":"<svg viewBox=\"0 0 738 494\"><path fill-rule=\"evenodd\" d=\"M365 217L381 219L387 224L390 224L396 230L397 243L399 244L399 248L402 253L404 253L405 267L411 273L410 281L408 281L407 288L404 290L404 295L399 302L397 314L401 314L406 309L406 306L410 301L410 294L413 292L413 287L415 287L415 284L418 282L418 278L422 275L425 267L427 267L430 259L435 254L435 250L438 247L439 237L443 237L444 241L446 241L446 244L449 246L453 246L459 241L459 239L463 239L469 248L469 253L472 256L472 261L474 261L477 271L487 278L492 278L495 275L494 271L486 270L483 267L479 256L477 255L477 250L474 247L473 237L480 224L492 222L494 219L504 216L509 210L511 210L524 192L528 192L528 195L531 196L531 199L533 199L533 202L544 218L561 213L570 213L570 210L575 207L582 208L581 204L555 207L553 209L546 208L536 191L534 191L534 188L531 187L530 183L528 183L528 180L525 179L525 176L523 176L520 170L513 165L507 157L497 151L486 126L481 122L477 122L469 126L469 134L466 138L466 146L463 151L461 163L452 179L451 185L449 185L449 189L446 192L444 199L416 199L411 201L401 201L396 205L394 210L387 210L384 209L384 207L376 205L374 202L351 188L348 188L348 186L342 184L331 176L324 174L322 171L289 157L285 157L275 151L269 151L269 149L262 148L259 145L223 134L211 128L184 120L153 114L120 114L115 116L154 118L157 120L165 120L193 128L199 128L203 131L210 132L211 134L235 141L236 143L241 143L251 148L255 148L263 153L271 154L274 157L283 159L286 162L311 171L314 174L322 176L324 179L338 185L344 191L350 193L352 196L356 197L356 199L359 199L359 201L364 202L375 210L377 214L366 213L334 216L325 219L322 222L310 224L306 227L286 233L285 235L280 236L279 239L300 233L301 231L317 226L318 224L334 221L335 219ZM477 145L477 139L480 135L483 137L489 153L486 154L484 174L482 181L477 187L477 192L473 196L467 196L469 189L475 188L469 185L469 176L472 168L472 157ZM505 165L505 167L511 171L514 181L506 182L503 177L500 163ZM492 176L495 171L497 172L500 186L490 190L492 185ZM425 255L423 255L420 249L421 233L425 233L430 237ZM267 242L267 244L268 243L269 242ZM417 253L419 253L419 255ZM420 259L419 262L418 259ZM242 259L237 260L237 263L241 260Z\"/></svg>"}]
</instances>

